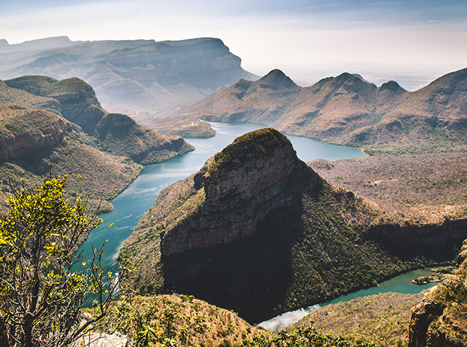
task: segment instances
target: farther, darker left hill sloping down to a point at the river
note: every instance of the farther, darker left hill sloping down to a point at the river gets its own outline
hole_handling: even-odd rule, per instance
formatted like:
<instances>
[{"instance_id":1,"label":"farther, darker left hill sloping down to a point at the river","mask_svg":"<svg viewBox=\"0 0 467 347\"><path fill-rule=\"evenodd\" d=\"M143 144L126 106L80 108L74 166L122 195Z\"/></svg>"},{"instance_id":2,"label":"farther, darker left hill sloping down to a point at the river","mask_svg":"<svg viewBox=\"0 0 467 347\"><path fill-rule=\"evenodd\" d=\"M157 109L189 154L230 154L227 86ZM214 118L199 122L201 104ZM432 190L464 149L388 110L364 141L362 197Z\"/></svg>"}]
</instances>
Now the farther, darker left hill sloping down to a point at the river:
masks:
<instances>
[{"instance_id":1,"label":"farther, darker left hill sloping down to a point at the river","mask_svg":"<svg viewBox=\"0 0 467 347\"><path fill-rule=\"evenodd\" d=\"M124 114L107 114L93 88L81 79L58 81L47 76L22 76L5 83L2 94L18 104L25 100L32 107L44 109L48 106L46 102L55 102L55 111L83 128L91 136L89 143L107 153L126 156L145 165L193 149L181 137L145 128Z\"/></svg>"}]
</instances>

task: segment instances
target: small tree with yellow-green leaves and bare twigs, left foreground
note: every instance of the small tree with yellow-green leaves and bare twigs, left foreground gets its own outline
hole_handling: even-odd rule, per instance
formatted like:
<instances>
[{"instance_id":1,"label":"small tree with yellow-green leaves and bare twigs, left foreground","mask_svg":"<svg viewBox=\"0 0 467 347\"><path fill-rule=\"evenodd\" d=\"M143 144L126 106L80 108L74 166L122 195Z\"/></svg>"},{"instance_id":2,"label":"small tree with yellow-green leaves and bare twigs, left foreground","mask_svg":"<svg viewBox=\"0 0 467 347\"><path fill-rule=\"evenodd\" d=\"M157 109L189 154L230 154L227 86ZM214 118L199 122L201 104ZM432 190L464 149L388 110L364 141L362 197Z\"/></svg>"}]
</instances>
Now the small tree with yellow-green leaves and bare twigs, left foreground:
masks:
<instances>
[{"instance_id":1,"label":"small tree with yellow-green leaves and bare twigs, left foreground","mask_svg":"<svg viewBox=\"0 0 467 347\"><path fill-rule=\"evenodd\" d=\"M86 202L65 197L67 176L44 179L32 193L8 198L0 219L0 346L67 346L108 311L117 290L100 267L102 245L82 271L72 266L79 241L102 221ZM82 320L80 308L95 294L99 315Z\"/></svg>"}]
</instances>

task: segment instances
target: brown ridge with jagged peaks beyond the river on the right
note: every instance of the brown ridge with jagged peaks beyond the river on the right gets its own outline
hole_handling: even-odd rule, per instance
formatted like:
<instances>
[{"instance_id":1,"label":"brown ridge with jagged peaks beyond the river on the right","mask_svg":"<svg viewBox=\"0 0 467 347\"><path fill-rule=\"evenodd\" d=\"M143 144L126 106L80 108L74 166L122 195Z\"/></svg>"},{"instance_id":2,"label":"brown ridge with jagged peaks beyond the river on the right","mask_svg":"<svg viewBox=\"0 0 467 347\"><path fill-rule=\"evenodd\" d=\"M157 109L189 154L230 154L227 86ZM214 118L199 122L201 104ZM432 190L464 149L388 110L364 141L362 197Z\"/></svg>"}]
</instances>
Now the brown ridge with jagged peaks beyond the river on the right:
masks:
<instances>
[{"instance_id":1,"label":"brown ridge with jagged peaks beyond the river on the right","mask_svg":"<svg viewBox=\"0 0 467 347\"><path fill-rule=\"evenodd\" d=\"M279 70L239 81L169 116L250 122L292 135L360 147L369 154L465 151L467 69L408 92L341 74L296 86Z\"/></svg>"}]
</instances>

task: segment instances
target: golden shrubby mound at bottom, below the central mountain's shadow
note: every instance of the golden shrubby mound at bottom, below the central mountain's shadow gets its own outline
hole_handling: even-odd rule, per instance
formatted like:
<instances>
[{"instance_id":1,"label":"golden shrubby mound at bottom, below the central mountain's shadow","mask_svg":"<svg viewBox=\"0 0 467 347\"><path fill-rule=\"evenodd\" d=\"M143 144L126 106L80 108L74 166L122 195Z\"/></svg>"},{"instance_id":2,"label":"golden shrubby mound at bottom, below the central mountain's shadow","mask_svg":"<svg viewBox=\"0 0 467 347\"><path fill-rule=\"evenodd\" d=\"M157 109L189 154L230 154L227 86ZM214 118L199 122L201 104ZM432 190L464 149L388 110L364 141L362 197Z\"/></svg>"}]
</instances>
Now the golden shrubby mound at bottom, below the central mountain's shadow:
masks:
<instances>
[{"instance_id":1,"label":"golden shrubby mound at bottom, below the central mountain's shadow","mask_svg":"<svg viewBox=\"0 0 467 347\"><path fill-rule=\"evenodd\" d=\"M251 340L255 334L265 333L232 311L180 294L124 297L106 318L108 324L105 331L118 331L134 341L137 337L135 316L139 316L140 324L153 327L157 331L157 339L162 340L164 333L167 333L167 319L170 317L172 338L185 346L218 347L221 343L239 346L243 339Z\"/></svg>"}]
</instances>

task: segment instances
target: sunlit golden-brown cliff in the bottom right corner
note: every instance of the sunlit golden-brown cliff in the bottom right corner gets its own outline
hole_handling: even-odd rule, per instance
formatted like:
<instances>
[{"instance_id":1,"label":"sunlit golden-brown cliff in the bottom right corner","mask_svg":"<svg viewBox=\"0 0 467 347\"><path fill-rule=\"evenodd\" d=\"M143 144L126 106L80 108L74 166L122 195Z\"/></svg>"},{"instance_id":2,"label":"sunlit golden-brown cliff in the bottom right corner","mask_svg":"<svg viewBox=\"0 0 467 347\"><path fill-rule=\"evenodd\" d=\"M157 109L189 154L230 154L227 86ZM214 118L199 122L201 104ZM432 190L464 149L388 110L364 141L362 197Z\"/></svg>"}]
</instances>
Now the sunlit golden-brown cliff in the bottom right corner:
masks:
<instances>
[{"instance_id":1,"label":"sunlit golden-brown cliff in the bottom right corner","mask_svg":"<svg viewBox=\"0 0 467 347\"><path fill-rule=\"evenodd\" d=\"M467 240L457 271L433 287L414 308L409 322L409 347L467 346Z\"/></svg>"}]
</instances>

